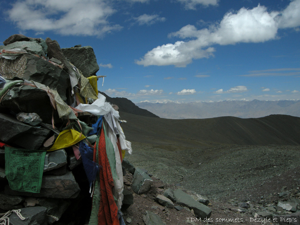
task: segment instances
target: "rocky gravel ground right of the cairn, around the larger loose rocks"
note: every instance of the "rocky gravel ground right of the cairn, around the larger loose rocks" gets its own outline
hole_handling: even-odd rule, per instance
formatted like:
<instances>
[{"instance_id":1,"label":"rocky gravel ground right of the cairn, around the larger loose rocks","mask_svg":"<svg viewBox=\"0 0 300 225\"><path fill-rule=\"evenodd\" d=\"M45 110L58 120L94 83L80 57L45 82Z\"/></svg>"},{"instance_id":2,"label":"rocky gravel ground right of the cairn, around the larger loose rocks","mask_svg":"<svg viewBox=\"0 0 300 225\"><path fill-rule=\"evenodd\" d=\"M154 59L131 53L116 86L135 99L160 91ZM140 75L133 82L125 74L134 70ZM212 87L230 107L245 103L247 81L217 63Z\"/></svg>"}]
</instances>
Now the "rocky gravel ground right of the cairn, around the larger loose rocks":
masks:
<instances>
[{"instance_id":1,"label":"rocky gravel ground right of the cairn, around the larger loose rocks","mask_svg":"<svg viewBox=\"0 0 300 225\"><path fill-rule=\"evenodd\" d=\"M263 221L256 213L272 212L278 201L300 198L299 150L299 146L217 146L168 151L133 143L133 154L126 158L134 166L147 169L154 184L149 192L135 194L130 187L131 174L127 173L125 188L134 193L134 204L124 211L126 224L144 224L146 210L169 225L278 224L273 217ZM159 205L155 197L169 187L207 197L212 209L210 221L200 222L186 209ZM241 212L239 202L248 202L251 207ZM291 212L276 213L286 218Z\"/></svg>"}]
</instances>

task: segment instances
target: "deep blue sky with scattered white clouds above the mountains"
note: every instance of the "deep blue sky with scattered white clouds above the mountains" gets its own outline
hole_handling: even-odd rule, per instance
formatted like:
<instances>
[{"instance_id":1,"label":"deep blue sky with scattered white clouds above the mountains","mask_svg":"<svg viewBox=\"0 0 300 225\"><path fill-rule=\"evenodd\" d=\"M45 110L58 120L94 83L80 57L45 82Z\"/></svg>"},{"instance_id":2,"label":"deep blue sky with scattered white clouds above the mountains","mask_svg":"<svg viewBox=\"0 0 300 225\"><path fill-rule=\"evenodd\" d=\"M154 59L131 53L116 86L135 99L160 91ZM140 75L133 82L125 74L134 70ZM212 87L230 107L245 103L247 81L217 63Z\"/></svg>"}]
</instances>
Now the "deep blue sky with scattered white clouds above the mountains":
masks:
<instances>
[{"instance_id":1,"label":"deep blue sky with scattered white clouds above the mountains","mask_svg":"<svg viewBox=\"0 0 300 225\"><path fill-rule=\"evenodd\" d=\"M1 1L13 34L92 46L110 97L300 99L300 0Z\"/></svg>"}]
</instances>

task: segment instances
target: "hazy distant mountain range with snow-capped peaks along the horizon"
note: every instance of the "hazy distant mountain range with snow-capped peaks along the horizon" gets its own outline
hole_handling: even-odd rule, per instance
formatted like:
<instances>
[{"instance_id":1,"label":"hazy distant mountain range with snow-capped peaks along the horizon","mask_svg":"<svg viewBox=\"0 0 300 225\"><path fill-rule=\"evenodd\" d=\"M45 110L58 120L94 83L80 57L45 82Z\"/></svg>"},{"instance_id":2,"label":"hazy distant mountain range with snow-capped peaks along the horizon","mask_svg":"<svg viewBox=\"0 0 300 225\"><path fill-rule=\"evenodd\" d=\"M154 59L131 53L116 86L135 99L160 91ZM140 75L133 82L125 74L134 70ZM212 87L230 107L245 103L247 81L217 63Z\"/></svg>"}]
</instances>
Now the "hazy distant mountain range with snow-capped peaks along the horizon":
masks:
<instances>
[{"instance_id":1,"label":"hazy distant mountain range with snow-capped peaks along the horizon","mask_svg":"<svg viewBox=\"0 0 300 225\"><path fill-rule=\"evenodd\" d=\"M220 102L192 102L150 103L143 101L136 105L151 113L167 119L204 119L220 116L235 116L240 118L259 118L271 114L283 114L300 117L300 100L279 101L220 101Z\"/></svg>"}]
</instances>

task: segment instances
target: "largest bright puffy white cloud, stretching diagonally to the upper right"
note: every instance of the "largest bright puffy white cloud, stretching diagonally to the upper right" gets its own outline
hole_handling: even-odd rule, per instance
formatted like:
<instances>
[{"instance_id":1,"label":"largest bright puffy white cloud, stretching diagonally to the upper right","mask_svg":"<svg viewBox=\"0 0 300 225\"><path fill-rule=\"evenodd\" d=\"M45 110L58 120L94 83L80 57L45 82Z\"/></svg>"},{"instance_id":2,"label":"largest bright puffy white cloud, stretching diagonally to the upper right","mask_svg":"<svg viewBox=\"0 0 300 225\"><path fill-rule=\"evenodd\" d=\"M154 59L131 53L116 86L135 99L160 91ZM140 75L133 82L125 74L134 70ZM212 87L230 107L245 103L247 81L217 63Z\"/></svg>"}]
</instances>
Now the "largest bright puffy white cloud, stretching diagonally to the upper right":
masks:
<instances>
[{"instance_id":1,"label":"largest bright puffy white cloud, stretching diagonally to the upper right","mask_svg":"<svg viewBox=\"0 0 300 225\"><path fill-rule=\"evenodd\" d=\"M182 2L192 2L184 1ZM300 26L300 0L290 2L282 12L271 11L258 5L252 9L241 8L237 12L228 12L220 23L198 30L186 25L169 37L187 39L174 44L157 46L135 62L139 65L174 65L185 67L194 59L209 58L215 51L212 45L236 43L259 43L277 38L277 30ZM286 24L289 20L289 25Z\"/></svg>"}]
</instances>

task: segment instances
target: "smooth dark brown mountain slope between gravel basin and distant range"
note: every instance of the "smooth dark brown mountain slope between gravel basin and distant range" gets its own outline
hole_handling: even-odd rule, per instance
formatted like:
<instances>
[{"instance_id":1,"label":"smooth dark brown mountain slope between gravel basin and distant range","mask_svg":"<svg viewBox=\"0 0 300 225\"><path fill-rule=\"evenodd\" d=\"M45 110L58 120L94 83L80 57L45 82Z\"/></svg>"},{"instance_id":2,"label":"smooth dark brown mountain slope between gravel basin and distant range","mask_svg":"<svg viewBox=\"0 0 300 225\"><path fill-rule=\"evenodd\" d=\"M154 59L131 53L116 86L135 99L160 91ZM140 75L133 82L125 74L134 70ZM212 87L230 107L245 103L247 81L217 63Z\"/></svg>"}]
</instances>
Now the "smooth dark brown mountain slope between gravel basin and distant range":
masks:
<instances>
[{"instance_id":1,"label":"smooth dark brown mountain slope between gravel basin and distant range","mask_svg":"<svg viewBox=\"0 0 300 225\"><path fill-rule=\"evenodd\" d=\"M163 119L120 114L127 140L163 149L218 145L300 145L300 118L270 115L241 119ZM174 147L175 146L175 147Z\"/></svg>"}]
</instances>

